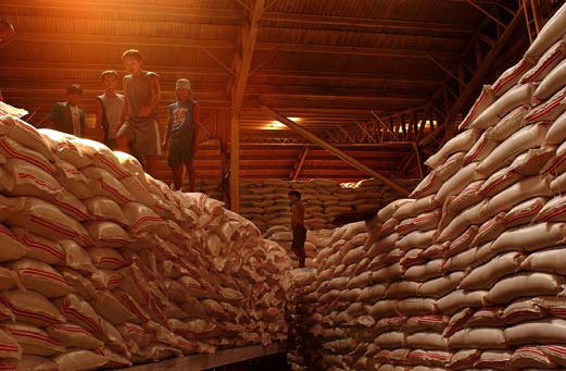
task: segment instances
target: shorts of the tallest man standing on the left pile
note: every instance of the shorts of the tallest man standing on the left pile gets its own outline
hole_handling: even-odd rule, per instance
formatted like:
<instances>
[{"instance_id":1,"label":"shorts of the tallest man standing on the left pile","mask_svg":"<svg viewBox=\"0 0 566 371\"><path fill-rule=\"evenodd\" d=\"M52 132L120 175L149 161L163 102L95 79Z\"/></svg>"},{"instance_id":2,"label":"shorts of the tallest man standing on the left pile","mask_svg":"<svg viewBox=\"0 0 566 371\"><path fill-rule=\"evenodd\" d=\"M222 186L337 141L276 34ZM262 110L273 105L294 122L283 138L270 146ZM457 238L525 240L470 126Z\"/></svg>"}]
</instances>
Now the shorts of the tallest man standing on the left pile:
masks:
<instances>
[{"instance_id":1,"label":"shorts of the tallest man standing on the left pile","mask_svg":"<svg viewBox=\"0 0 566 371\"><path fill-rule=\"evenodd\" d=\"M152 119L141 123L125 122L116 136L127 137L134 143L136 152L141 157L161 156L158 120Z\"/></svg>"}]
</instances>

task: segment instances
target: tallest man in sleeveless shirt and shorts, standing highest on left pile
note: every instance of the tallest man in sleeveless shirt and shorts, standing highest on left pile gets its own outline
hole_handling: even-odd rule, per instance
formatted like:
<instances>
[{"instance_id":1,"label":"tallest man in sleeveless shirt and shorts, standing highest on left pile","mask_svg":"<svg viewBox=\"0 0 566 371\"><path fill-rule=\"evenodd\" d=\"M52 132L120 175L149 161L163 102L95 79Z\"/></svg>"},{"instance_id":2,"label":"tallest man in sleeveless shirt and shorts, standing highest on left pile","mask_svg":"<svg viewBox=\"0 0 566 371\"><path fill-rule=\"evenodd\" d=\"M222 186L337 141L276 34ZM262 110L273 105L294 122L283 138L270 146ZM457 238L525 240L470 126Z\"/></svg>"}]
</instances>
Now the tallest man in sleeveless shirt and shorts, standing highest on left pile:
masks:
<instances>
[{"instance_id":1,"label":"tallest man in sleeveless shirt and shorts, standing highest on left pile","mask_svg":"<svg viewBox=\"0 0 566 371\"><path fill-rule=\"evenodd\" d=\"M160 99L158 75L141 69L142 58L138 50L127 50L122 55L122 60L129 75L124 77L125 101L116 144L121 151L131 153L129 144L134 143L146 171L151 176L155 176L156 160L161 154L158 127Z\"/></svg>"}]
</instances>

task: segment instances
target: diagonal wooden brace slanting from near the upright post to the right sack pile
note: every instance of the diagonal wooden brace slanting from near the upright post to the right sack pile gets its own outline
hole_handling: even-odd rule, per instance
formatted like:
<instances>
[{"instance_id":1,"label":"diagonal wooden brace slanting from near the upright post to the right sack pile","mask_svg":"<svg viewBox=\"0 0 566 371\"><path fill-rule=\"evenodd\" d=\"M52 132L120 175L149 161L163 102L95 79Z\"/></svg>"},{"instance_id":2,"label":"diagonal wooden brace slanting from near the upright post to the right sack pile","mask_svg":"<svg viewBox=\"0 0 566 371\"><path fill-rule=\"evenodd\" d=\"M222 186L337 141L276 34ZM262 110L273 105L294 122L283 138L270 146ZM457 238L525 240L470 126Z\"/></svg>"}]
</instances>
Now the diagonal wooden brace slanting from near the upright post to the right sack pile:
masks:
<instances>
[{"instance_id":1,"label":"diagonal wooden brace slanting from near the upright post to the right sack pile","mask_svg":"<svg viewBox=\"0 0 566 371\"><path fill-rule=\"evenodd\" d=\"M291 120L282 116L281 114L279 114L277 111L274 111L271 108L267 108L267 107L265 107L263 104L261 104L260 108L262 109L262 111L267 113L269 116L272 116L275 120L279 121L281 124L287 125L289 128L298 132L301 136L305 137L306 139L311 140L312 143L314 143L314 144L316 144L316 145L327 149L331 153L336 154L337 157L341 158L342 160L344 160L345 162L348 162L349 164L354 166L355 169L359 169L359 170L363 171L364 173L366 173L366 174L368 174L368 175L370 175L370 176L381 181L383 184L386 184L390 188L399 191L402 196L408 196L408 194L410 194L408 190L406 190L401 185L392 182L390 178L381 175L380 173L376 172L375 170L369 169L368 166L364 165L363 163L361 163L360 161L357 161L353 157L347 154L345 152L343 152L342 150L340 150L340 149L336 148L335 146L330 145L326 140L320 139L319 137L317 137L313 133L306 131L301 125L294 123L293 121L291 121Z\"/></svg>"}]
</instances>

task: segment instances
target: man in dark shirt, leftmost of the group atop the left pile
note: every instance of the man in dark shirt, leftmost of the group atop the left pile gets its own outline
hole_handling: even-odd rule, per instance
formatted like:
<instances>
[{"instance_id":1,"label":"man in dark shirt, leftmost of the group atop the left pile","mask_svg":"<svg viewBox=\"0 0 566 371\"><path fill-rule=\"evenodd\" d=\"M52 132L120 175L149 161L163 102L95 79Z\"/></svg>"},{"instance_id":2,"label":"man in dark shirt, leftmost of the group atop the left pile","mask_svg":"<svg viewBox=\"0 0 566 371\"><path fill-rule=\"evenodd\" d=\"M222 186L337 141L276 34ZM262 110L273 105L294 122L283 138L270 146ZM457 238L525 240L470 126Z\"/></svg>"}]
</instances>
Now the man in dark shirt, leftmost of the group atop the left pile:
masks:
<instances>
[{"instance_id":1,"label":"man in dark shirt, leftmost of the group atop the left pile","mask_svg":"<svg viewBox=\"0 0 566 371\"><path fill-rule=\"evenodd\" d=\"M67 88L66 102L54 103L49 112L48 120L51 127L67 134L81 137L85 133L85 112L78 107L83 95L80 85L73 84Z\"/></svg>"}]
</instances>

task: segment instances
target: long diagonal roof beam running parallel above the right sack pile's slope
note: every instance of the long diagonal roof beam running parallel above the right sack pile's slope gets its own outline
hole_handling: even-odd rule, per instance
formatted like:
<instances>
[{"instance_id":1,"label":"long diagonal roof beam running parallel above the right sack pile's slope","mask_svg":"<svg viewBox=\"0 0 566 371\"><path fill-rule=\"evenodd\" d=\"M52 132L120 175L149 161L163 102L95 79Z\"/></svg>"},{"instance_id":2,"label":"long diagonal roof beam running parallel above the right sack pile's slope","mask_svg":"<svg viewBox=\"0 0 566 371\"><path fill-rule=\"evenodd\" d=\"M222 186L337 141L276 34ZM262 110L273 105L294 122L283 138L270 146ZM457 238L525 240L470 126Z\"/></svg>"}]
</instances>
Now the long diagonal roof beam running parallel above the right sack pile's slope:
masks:
<instances>
[{"instance_id":1,"label":"long diagonal roof beam running parallel above the right sack pile's slope","mask_svg":"<svg viewBox=\"0 0 566 371\"><path fill-rule=\"evenodd\" d=\"M486 58L483 58L481 64L478 66L471 79L467 83L466 88L464 91L462 91L456 102L448 111L448 114L444 118L444 122L439 125L436 131L429 133L425 138L423 138L418 143L419 147L426 146L428 143L435 139L437 135L440 134L440 132L442 132L450 124L451 120L462 110L463 106L471 98L471 96L477 92L478 86L481 84L483 78L486 78L486 75L490 72L493 62L506 46L507 40L513 35L513 32L517 25L520 23L524 16L523 8L525 8L525 2L521 3L521 7L515 13L515 16L499 38L498 44L488 52Z\"/></svg>"}]
</instances>

